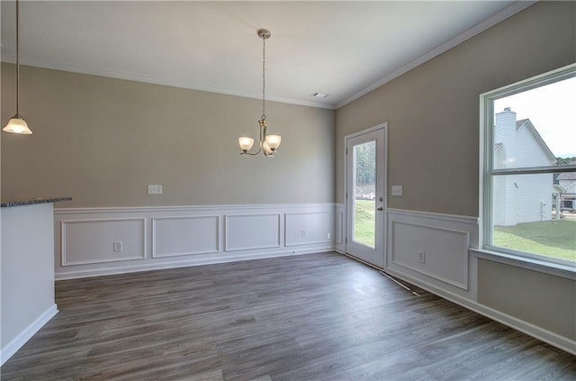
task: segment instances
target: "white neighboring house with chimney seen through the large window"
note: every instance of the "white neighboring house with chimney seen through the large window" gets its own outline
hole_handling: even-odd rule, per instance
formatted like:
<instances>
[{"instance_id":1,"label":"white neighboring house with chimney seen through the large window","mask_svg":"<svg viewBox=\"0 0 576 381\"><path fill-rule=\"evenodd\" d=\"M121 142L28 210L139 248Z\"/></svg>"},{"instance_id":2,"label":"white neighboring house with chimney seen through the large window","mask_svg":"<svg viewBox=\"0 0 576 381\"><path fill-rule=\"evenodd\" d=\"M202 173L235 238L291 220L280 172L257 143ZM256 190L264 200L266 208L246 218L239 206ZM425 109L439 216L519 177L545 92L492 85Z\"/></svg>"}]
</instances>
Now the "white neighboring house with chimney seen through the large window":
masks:
<instances>
[{"instance_id":1,"label":"white neighboring house with chimney seen through the large window","mask_svg":"<svg viewBox=\"0 0 576 381\"><path fill-rule=\"evenodd\" d=\"M554 166L556 159L529 119L516 120L509 107L496 114L494 168ZM493 223L511 226L552 219L552 174L500 176L494 180Z\"/></svg>"}]
</instances>

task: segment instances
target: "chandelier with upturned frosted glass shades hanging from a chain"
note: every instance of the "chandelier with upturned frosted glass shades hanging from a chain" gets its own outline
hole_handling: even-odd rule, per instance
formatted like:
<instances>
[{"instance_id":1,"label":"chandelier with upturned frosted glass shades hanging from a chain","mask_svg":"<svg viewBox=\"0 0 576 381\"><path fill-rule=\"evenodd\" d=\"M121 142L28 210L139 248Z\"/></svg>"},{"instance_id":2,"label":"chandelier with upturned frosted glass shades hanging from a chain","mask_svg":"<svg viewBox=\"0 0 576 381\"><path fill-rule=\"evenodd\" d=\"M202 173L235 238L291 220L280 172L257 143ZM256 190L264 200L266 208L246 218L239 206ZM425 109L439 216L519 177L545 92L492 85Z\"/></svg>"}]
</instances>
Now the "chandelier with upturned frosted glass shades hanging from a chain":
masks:
<instances>
[{"instance_id":1,"label":"chandelier with upturned frosted glass shades hanging from a chain","mask_svg":"<svg viewBox=\"0 0 576 381\"><path fill-rule=\"evenodd\" d=\"M273 154L278 147L280 147L280 142L282 137L280 135L267 135L266 129L268 127L268 121L266 120L266 40L270 38L272 33L266 29L260 29L258 32L258 37L262 39L262 116L258 121L260 125L260 142L259 148L256 152L249 152L249 150L254 145L254 139L242 136L238 138L238 144L240 146L240 155L252 155L256 156L260 151L264 153L267 158L274 158Z\"/></svg>"}]
</instances>

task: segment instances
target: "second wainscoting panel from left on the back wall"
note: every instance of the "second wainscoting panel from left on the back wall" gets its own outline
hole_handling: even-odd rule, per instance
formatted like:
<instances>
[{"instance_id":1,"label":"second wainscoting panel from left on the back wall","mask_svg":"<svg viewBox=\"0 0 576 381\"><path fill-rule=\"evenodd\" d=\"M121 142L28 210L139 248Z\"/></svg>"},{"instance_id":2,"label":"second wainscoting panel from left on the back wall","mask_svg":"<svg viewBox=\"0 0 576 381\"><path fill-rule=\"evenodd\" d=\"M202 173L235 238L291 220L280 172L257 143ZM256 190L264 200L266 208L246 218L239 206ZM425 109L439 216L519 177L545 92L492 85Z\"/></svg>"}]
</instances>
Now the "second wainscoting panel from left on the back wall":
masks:
<instances>
[{"instance_id":1,"label":"second wainscoting panel from left on the back wall","mask_svg":"<svg viewBox=\"0 0 576 381\"><path fill-rule=\"evenodd\" d=\"M219 216L152 218L152 257L217 253Z\"/></svg>"}]
</instances>

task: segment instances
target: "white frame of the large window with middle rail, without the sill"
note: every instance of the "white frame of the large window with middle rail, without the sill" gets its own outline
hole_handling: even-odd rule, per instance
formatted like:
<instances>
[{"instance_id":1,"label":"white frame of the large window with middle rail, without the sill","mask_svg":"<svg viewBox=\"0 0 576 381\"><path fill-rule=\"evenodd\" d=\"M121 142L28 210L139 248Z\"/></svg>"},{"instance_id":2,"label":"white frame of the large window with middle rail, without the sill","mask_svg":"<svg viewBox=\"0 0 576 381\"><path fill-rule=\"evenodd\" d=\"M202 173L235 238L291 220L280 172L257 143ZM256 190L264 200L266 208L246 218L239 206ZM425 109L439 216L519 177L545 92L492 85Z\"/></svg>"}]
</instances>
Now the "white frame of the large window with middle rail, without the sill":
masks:
<instances>
[{"instance_id":1,"label":"white frame of the large window with middle rail, without the sill","mask_svg":"<svg viewBox=\"0 0 576 381\"><path fill-rule=\"evenodd\" d=\"M576 165L532 168L493 168L494 147L494 101L510 95L526 92L564 79L576 77L576 64L531 77L509 86L503 86L480 95L480 244L481 249L524 260L536 260L540 265L561 265L576 272L576 262L556 259L527 251L502 248L492 245L492 178L506 175L530 175L541 173L564 173L576 171Z\"/></svg>"}]
</instances>

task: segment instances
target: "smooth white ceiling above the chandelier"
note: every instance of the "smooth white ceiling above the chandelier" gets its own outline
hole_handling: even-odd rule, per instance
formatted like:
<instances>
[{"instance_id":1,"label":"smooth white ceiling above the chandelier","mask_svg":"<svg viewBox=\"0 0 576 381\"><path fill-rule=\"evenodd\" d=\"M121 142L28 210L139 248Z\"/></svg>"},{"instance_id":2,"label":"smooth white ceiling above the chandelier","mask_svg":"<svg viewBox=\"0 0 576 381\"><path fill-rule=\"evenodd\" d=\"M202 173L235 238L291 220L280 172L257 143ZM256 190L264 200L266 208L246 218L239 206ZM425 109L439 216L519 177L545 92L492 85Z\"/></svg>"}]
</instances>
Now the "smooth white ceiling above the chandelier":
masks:
<instances>
[{"instance_id":1,"label":"smooth white ceiling above the chandelier","mask_svg":"<svg viewBox=\"0 0 576 381\"><path fill-rule=\"evenodd\" d=\"M266 28L266 99L335 109L531 4L21 1L20 62L258 98ZM14 62L15 3L1 12Z\"/></svg>"}]
</instances>

